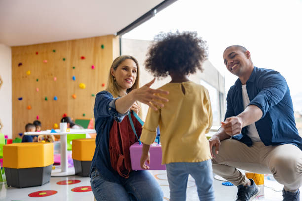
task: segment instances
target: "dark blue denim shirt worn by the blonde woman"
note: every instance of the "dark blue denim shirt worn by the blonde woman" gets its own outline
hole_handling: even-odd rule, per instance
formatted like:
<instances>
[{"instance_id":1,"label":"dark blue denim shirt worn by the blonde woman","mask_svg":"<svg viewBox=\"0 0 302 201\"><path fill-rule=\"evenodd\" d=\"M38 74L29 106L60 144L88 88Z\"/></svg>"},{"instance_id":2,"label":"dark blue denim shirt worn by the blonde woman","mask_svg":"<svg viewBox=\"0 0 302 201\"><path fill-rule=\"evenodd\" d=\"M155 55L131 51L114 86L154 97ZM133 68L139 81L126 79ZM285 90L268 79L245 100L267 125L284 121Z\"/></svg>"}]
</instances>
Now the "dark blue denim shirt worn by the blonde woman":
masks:
<instances>
[{"instance_id":1,"label":"dark blue denim shirt worn by the blonde woman","mask_svg":"<svg viewBox=\"0 0 302 201\"><path fill-rule=\"evenodd\" d=\"M107 181L123 182L125 178L119 176L110 164L109 155L109 132L114 121L121 122L128 115L120 114L115 110L115 101L118 98L113 96L108 91L101 91L95 97L94 103L94 119L95 130L97 132L95 144L96 148L91 163L90 173L93 168L97 168L100 175Z\"/></svg>"}]
</instances>

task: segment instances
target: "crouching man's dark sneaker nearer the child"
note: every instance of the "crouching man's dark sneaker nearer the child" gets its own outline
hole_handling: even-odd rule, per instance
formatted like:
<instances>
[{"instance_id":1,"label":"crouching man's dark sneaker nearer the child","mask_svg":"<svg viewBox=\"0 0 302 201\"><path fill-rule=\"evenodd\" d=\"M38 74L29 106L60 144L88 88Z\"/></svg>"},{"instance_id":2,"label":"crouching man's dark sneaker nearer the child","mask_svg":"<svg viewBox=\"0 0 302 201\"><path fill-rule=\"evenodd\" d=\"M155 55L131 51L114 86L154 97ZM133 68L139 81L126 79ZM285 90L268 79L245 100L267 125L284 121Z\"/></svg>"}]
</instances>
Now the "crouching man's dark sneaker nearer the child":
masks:
<instances>
[{"instance_id":1,"label":"crouching man's dark sneaker nearer the child","mask_svg":"<svg viewBox=\"0 0 302 201\"><path fill-rule=\"evenodd\" d=\"M260 189L256 186L253 179L250 179L250 186L237 186L237 199L236 201L252 201L260 193Z\"/></svg>"}]
</instances>

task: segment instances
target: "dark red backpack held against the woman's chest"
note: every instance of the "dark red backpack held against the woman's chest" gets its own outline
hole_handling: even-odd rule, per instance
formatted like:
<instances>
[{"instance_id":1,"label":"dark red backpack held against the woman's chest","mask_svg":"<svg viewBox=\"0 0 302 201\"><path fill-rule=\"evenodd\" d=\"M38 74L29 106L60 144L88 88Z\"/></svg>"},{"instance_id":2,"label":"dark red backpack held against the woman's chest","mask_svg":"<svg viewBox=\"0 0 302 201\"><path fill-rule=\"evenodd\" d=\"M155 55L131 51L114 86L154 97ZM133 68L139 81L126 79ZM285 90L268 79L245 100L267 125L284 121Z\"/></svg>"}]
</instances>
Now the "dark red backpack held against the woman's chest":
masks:
<instances>
[{"instance_id":1,"label":"dark red backpack held against the woman's chest","mask_svg":"<svg viewBox=\"0 0 302 201\"><path fill-rule=\"evenodd\" d=\"M129 115L131 115L131 119L133 120L136 133L140 137L142 124L135 118L133 112L129 113ZM124 178L129 178L129 174L132 171L129 148L132 144L138 142L131 127L129 115L125 116L120 123L114 121L109 132L111 167Z\"/></svg>"}]
</instances>

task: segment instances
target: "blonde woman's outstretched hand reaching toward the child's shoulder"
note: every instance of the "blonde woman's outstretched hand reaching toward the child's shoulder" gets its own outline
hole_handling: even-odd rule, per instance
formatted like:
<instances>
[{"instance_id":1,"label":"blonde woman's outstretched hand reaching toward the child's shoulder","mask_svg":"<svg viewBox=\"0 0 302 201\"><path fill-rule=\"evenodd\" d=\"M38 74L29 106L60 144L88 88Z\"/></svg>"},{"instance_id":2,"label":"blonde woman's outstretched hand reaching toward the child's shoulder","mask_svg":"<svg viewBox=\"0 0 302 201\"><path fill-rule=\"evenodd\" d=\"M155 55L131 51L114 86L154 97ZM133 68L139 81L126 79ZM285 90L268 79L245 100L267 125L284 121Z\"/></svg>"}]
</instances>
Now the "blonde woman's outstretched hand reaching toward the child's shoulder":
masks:
<instances>
[{"instance_id":1,"label":"blonde woman's outstretched hand reaching toward the child's shoulder","mask_svg":"<svg viewBox=\"0 0 302 201\"><path fill-rule=\"evenodd\" d=\"M152 109L155 111L157 110L157 107L163 107L164 104L162 102L168 102L169 100L166 98L163 98L156 94L169 94L168 91L164 91L161 89L151 89L150 86L155 82L155 78L142 86L139 89L133 90L133 96L135 100L138 100L144 104L149 105ZM156 107L157 106L157 107Z\"/></svg>"}]
</instances>

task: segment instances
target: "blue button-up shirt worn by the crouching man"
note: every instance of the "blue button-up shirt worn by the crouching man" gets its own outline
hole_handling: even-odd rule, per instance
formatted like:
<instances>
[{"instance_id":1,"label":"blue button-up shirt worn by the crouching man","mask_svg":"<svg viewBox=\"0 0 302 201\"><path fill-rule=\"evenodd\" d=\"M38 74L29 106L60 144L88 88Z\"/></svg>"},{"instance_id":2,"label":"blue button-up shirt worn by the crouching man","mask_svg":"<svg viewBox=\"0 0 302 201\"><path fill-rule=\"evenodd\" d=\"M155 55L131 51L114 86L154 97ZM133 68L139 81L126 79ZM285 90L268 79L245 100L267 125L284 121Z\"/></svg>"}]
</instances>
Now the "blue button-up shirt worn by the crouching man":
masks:
<instances>
[{"instance_id":1,"label":"blue button-up shirt worn by the crouching man","mask_svg":"<svg viewBox=\"0 0 302 201\"><path fill-rule=\"evenodd\" d=\"M293 103L285 78L277 71L254 67L246 82L249 105L256 105L263 113L255 122L261 141L266 145L294 144L302 150L302 140L296 128ZM242 84L238 79L227 94L225 119L243 112ZM248 146L252 140L247 128L232 137Z\"/></svg>"}]
</instances>

